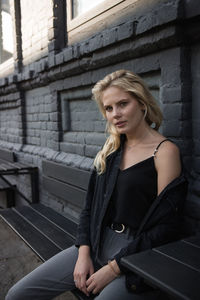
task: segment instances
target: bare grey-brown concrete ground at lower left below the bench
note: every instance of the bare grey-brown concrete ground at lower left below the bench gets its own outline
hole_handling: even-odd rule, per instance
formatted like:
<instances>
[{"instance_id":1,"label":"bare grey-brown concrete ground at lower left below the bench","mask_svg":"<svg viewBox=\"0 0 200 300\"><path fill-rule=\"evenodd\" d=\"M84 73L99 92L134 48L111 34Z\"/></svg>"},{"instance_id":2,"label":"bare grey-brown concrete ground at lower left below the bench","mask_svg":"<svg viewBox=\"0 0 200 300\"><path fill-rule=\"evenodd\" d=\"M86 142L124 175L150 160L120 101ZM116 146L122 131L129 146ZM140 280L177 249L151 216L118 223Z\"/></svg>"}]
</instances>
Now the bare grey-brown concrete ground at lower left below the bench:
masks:
<instances>
[{"instance_id":1,"label":"bare grey-brown concrete ground at lower left below the bench","mask_svg":"<svg viewBox=\"0 0 200 300\"><path fill-rule=\"evenodd\" d=\"M0 217L0 299L9 288L41 264L41 260ZM76 300L67 292L54 300Z\"/></svg>"}]
</instances>

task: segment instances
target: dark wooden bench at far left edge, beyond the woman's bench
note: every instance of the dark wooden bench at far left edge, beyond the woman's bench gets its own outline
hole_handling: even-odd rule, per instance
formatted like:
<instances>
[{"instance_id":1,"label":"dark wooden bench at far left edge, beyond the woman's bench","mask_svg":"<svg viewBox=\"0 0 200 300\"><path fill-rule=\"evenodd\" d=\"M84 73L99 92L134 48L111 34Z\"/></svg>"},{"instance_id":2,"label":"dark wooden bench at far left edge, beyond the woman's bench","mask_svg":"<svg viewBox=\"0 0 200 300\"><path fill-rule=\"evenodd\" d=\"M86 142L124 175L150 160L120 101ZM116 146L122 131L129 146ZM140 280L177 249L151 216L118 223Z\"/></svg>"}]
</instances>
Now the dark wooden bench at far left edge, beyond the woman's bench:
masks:
<instances>
[{"instance_id":1,"label":"dark wooden bench at far left edge, beyond the woman's bench","mask_svg":"<svg viewBox=\"0 0 200 300\"><path fill-rule=\"evenodd\" d=\"M31 177L31 200L28 199L24 194L22 194L17 186L12 184L8 180L10 175L24 175L29 174ZM13 151L7 149L0 149L0 187L1 191L6 192L6 200L4 202L4 207L10 207L14 205L15 193L18 193L27 202L38 202L39 201L39 190L38 190L38 168L35 166L30 166L22 164L16 161L16 156Z\"/></svg>"}]
</instances>

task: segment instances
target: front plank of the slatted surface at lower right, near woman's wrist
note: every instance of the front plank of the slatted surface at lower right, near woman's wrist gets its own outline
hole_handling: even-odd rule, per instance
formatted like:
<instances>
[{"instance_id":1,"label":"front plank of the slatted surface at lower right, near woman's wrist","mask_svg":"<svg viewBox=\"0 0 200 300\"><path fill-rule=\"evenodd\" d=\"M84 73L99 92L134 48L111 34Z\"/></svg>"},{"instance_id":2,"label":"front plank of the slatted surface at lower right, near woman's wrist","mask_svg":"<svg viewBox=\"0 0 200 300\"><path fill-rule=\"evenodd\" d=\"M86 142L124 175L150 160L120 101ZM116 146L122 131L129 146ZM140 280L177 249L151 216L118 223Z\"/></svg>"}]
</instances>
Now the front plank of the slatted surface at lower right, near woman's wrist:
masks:
<instances>
[{"instance_id":1,"label":"front plank of the slatted surface at lower right, near woman's wrist","mask_svg":"<svg viewBox=\"0 0 200 300\"><path fill-rule=\"evenodd\" d=\"M147 282L183 300L199 300L200 272L153 250L122 259L129 270Z\"/></svg>"}]
</instances>

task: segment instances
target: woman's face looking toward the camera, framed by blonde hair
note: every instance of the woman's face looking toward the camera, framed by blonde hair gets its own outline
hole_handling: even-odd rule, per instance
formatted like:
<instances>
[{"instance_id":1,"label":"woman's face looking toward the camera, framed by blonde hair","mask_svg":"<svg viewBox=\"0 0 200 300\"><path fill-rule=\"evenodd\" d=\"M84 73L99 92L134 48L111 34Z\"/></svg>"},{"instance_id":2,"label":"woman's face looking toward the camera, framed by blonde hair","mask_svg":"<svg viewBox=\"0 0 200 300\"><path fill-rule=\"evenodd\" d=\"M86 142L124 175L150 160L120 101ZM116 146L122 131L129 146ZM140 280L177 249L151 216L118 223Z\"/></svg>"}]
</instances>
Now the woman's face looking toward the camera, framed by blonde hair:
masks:
<instances>
[{"instance_id":1,"label":"woman's face looking toward the camera, framed by blonde hair","mask_svg":"<svg viewBox=\"0 0 200 300\"><path fill-rule=\"evenodd\" d=\"M131 134L143 123L144 105L118 87L107 88L102 95L106 119L119 134Z\"/></svg>"}]
</instances>

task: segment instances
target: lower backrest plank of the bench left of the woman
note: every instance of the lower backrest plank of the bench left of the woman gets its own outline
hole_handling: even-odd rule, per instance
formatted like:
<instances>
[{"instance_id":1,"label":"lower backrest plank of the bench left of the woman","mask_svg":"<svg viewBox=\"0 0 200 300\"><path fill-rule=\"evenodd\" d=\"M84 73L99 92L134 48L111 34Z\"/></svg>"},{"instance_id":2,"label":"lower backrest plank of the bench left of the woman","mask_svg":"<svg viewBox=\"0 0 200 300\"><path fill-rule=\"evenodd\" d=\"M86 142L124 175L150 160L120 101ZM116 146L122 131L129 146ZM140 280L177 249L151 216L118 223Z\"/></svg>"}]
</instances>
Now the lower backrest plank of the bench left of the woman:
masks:
<instances>
[{"instance_id":1,"label":"lower backrest plank of the bench left of the woman","mask_svg":"<svg viewBox=\"0 0 200 300\"><path fill-rule=\"evenodd\" d=\"M83 207L86 192L64 182L43 176L44 188L51 194L80 208Z\"/></svg>"}]
</instances>

